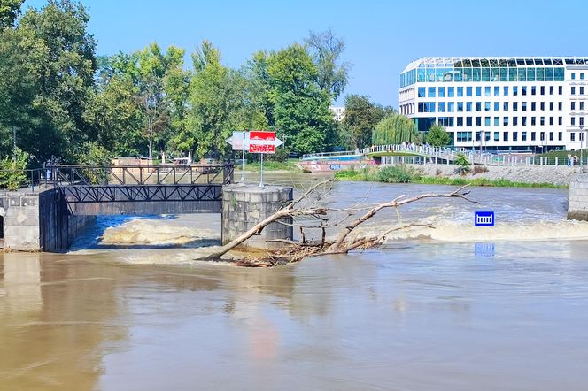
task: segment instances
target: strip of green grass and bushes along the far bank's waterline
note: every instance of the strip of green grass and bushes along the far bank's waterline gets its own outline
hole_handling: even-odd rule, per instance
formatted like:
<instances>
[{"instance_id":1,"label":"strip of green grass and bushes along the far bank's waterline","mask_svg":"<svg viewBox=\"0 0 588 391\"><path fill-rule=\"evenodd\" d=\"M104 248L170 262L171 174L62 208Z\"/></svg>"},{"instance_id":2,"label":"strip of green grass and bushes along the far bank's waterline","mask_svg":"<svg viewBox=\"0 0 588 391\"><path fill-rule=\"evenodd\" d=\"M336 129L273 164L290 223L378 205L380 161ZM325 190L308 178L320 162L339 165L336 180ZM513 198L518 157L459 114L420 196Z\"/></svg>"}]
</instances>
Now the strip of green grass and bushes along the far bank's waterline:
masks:
<instances>
[{"instance_id":1,"label":"strip of green grass and bushes along the far bank's waterline","mask_svg":"<svg viewBox=\"0 0 588 391\"><path fill-rule=\"evenodd\" d=\"M497 188L568 188L567 186L554 185L553 183L528 183L513 180L499 179L488 180L485 178L448 178L423 176L414 167L406 165L387 165L381 169L364 168L361 170L341 170L335 174L337 180L360 180L385 183L416 183L422 185L452 185L452 186L486 186Z\"/></svg>"}]
</instances>

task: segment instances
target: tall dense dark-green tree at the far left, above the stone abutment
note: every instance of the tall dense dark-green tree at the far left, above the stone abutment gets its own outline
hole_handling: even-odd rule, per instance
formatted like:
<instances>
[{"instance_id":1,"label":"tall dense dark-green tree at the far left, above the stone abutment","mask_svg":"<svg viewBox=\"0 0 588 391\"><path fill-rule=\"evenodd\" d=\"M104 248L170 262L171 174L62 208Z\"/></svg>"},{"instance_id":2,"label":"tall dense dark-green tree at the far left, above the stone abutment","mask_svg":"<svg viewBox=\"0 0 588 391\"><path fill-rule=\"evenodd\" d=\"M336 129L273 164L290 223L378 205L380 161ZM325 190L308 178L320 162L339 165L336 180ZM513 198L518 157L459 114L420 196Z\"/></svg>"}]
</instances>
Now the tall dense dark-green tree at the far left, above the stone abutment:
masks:
<instances>
[{"instance_id":1,"label":"tall dense dark-green tree at the far left, above the stone abutment","mask_svg":"<svg viewBox=\"0 0 588 391\"><path fill-rule=\"evenodd\" d=\"M29 9L0 37L0 139L12 140L39 164L73 159L94 134L85 118L94 87L95 42L81 4L51 1Z\"/></svg>"}]
</instances>

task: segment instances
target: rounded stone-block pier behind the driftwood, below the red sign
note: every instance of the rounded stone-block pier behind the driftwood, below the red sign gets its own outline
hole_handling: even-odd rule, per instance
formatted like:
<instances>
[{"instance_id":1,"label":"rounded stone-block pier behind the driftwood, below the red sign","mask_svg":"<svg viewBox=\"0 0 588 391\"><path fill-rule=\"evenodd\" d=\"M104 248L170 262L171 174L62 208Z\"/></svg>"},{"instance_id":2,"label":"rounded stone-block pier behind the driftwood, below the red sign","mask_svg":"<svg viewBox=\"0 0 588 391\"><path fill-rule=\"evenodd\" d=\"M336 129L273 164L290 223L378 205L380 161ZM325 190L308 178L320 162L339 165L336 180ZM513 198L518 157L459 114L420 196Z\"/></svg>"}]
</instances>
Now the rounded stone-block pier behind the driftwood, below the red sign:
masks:
<instances>
[{"instance_id":1,"label":"rounded stone-block pier behind the driftwood, below the red sign","mask_svg":"<svg viewBox=\"0 0 588 391\"><path fill-rule=\"evenodd\" d=\"M278 211L284 203L292 201L293 188L257 185L226 185L222 188L222 244L235 239ZM291 219L283 221L291 224ZM242 247L275 249L283 243L267 242L271 239L292 240L292 226L272 223L261 234L251 237Z\"/></svg>"}]
</instances>

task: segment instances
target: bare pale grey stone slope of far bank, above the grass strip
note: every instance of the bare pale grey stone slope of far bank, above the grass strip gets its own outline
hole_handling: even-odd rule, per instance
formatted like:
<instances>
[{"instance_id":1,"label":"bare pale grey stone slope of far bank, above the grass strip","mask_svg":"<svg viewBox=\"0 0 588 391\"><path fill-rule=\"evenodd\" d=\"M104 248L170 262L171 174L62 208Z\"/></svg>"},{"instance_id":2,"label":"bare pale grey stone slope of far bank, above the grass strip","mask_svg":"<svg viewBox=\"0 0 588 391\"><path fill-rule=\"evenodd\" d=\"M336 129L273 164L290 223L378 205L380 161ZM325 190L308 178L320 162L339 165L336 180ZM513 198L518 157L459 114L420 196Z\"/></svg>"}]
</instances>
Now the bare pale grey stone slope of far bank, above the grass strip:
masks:
<instances>
[{"instance_id":1,"label":"bare pale grey stone slope of far bank, above the grass strip","mask_svg":"<svg viewBox=\"0 0 588 391\"><path fill-rule=\"evenodd\" d=\"M567 165L520 165L520 166L485 166L488 171L485 173L468 173L459 175L455 173L456 165L410 165L418 169L426 176L441 176L448 178L464 178L475 180L484 178L486 180L511 180L514 182L526 183L553 183L553 185L566 186L580 173L580 167L569 167ZM480 166L483 167L483 166Z\"/></svg>"}]
</instances>

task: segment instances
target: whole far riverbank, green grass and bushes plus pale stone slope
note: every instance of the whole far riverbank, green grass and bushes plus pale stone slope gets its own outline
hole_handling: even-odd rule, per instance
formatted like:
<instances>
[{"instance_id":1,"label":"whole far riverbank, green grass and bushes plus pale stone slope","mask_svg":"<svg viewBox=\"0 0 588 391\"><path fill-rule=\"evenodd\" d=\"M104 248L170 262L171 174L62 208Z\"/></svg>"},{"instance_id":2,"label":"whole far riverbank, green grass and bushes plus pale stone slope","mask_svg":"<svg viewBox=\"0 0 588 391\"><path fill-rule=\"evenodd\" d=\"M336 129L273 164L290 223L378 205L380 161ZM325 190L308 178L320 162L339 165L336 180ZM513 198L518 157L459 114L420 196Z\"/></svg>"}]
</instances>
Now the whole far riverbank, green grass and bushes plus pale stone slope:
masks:
<instances>
[{"instance_id":1,"label":"whole far riverbank, green grass and bushes plus pale stone slope","mask_svg":"<svg viewBox=\"0 0 588 391\"><path fill-rule=\"evenodd\" d=\"M397 183L422 183L443 185L567 188L579 167L566 165L529 166L476 166L470 173L456 173L457 165L405 165L404 168L382 171L341 171L338 180L367 180Z\"/></svg>"}]
</instances>

